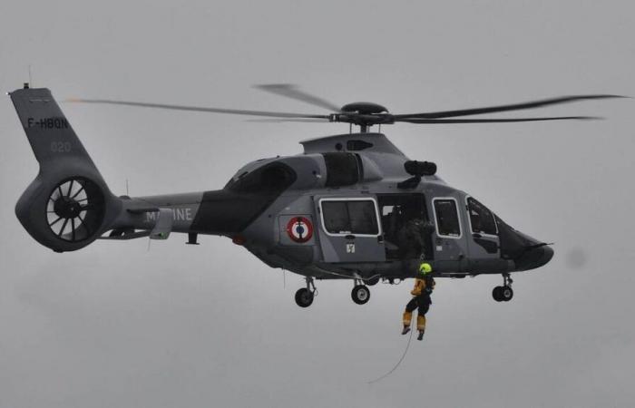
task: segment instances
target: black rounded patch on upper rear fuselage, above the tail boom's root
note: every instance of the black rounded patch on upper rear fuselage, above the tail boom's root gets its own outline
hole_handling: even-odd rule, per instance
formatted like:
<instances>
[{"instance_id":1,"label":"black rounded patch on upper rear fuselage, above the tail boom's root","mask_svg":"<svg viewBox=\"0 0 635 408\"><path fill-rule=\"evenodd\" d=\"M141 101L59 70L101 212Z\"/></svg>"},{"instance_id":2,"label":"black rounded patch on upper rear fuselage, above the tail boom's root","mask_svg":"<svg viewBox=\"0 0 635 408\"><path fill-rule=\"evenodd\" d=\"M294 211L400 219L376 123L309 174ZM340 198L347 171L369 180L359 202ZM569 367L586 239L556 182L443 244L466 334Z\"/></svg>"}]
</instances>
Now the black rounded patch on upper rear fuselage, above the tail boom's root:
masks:
<instances>
[{"instance_id":1,"label":"black rounded patch on upper rear fuselage, above the tail boom's root","mask_svg":"<svg viewBox=\"0 0 635 408\"><path fill-rule=\"evenodd\" d=\"M274 162L256 170L244 172L225 186L234 192L253 194L279 194L297 179L296 172L288 165Z\"/></svg>"}]
</instances>

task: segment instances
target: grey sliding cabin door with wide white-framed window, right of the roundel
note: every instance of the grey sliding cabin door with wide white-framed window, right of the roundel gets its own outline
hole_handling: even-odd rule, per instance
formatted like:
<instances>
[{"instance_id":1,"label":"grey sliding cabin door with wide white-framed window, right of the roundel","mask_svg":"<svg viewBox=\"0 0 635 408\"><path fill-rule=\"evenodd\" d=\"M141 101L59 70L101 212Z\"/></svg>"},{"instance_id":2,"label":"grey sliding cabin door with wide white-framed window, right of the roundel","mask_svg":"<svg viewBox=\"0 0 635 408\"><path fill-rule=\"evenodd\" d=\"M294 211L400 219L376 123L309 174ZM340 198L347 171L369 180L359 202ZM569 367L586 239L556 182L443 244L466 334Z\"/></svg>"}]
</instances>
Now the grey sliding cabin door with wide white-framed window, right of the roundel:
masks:
<instances>
[{"instance_id":1,"label":"grey sliding cabin door with wide white-framed window, right of the roundel","mask_svg":"<svg viewBox=\"0 0 635 408\"><path fill-rule=\"evenodd\" d=\"M379 211L374 196L316 196L319 242L325 262L386 260Z\"/></svg>"}]
</instances>

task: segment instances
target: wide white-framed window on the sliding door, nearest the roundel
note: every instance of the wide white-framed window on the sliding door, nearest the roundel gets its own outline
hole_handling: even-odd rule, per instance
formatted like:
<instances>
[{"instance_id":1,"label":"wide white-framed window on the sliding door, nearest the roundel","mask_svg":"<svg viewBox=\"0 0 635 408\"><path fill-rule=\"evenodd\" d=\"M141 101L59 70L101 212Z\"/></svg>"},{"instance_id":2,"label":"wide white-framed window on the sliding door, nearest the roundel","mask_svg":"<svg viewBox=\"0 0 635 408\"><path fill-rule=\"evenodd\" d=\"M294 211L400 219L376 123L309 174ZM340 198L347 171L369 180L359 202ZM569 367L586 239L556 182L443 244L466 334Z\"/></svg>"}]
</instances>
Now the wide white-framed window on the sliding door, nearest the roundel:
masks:
<instances>
[{"instance_id":1,"label":"wide white-framed window on the sliding door, nearest the roundel","mask_svg":"<svg viewBox=\"0 0 635 408\"><path fill-rule=\"evenodd\" d=\"M335 235L379 235L376 203L373 199L322 199L322 222Z\"/></svg>"}]
</instances>

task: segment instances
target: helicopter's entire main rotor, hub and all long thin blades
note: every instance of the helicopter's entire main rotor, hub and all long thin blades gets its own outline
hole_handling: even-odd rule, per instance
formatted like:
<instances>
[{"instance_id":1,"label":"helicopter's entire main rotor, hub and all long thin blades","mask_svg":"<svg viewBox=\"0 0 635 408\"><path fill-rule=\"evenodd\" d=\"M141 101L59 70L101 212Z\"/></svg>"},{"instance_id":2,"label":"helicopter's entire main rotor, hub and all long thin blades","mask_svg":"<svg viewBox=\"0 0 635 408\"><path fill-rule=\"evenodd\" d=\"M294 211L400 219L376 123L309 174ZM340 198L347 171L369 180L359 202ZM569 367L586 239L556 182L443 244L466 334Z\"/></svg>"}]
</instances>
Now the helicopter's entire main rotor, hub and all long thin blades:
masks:
<instances>
[{"instance_id":1,"label":"helicopter's entire main rotor, hub and all long thin blades","mask_svg":"<svg viewBox=\"0 0 635 408\"><path fill-rule=\"evenodd\" d=\"M454 111L440 112L419 112L408 114L393 114L376 103L372 102L354 102L348 103L341 108L336 104L308 92L303 92L295 85L287 83L255 85L256 88L278 94L287 98L291 98L301 102L307 102L320 108L327 109L329 114L304 114L293 112L267 112L267 111L247 111L238 109L225 108L207 108L200 106L187 106L163 103L149 102L129 102L114 101L104 99L73 99L68 102L85 102L85 103L109 103L118 105L138 106L145 108L170 109L178 111L193 112L213 112L213 113L230 113L248 116L264 116L271 118L269 121L330 121L351 123L360 126L361 131L365 132L368 127L376 124L392 124L396 122L415 123L415 124L441 124L441 123L504 123L519 121L581 121L601 119L595 116L543 116L543 117L526 117L526 118L483 118L483 119L455 119L464 116L481 115L484 113L512 112L527 109L542 108L545 106L557 105L562 103L600 100L610 98L622 98L619 95L611 94L589 94L589 95L572 95L561 96L550 99L542 99L530 102L513 103L506 105L496 105L481 108L462 109Z\"/></svg>"}]
</instances>

